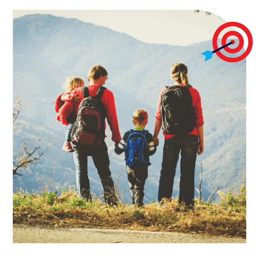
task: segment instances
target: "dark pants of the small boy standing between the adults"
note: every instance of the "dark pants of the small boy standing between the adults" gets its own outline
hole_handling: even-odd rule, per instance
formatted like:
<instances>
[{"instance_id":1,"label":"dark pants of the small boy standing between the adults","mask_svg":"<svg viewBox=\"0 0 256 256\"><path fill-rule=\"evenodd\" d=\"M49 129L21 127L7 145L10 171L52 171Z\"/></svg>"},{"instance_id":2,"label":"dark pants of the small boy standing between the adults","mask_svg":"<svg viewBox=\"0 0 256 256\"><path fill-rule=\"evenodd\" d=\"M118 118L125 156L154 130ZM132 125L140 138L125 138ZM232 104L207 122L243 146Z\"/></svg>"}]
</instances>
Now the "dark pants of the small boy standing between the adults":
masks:
<instances>
[{"instance_id":1,"label":"dark pants of the small boy standing between the adults","mask_svg":"<svg viewBox=\"0 0 256 256\"><path fill-rule=\"evenodd\" d=\"M128 183L133 204L143 205L144 185L148 177L148 166L134 168L126 165Z\"/></svg>"}]
</instances>

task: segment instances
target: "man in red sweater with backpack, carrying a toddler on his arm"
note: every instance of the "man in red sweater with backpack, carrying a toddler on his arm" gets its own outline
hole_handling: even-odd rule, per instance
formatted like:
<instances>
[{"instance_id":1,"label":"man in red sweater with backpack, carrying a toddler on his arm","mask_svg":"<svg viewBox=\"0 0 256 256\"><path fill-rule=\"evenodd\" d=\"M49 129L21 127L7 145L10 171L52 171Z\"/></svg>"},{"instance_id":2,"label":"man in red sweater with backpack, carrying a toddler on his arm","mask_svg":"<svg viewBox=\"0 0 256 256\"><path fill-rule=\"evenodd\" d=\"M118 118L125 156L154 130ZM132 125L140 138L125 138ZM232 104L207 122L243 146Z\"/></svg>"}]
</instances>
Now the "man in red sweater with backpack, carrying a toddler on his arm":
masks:
<instances>
[{"instance_id":1,"label":"man in red sweater with backpack, carrying a toddler on his arm","mask_svg":"<svg viewBox=\"0 0 256 256\"><path fill-rule=\"evenodd\" d=\"M105 202L116 205L117 198L109 169L108 147L104 141L107 137L105 117L107 117L115 146L120 143L122 137L119 132L113 93L103 87L107 79L107 70L100 65L95 65L88 72L89 85L73 90L72 93L80 98L80 103L75 103L77 118L71 131L71 140L76 165L76 186L82 198L91 199L87 172L87 157L91 156L102 183Z\"/></svg>"}]
</instances>

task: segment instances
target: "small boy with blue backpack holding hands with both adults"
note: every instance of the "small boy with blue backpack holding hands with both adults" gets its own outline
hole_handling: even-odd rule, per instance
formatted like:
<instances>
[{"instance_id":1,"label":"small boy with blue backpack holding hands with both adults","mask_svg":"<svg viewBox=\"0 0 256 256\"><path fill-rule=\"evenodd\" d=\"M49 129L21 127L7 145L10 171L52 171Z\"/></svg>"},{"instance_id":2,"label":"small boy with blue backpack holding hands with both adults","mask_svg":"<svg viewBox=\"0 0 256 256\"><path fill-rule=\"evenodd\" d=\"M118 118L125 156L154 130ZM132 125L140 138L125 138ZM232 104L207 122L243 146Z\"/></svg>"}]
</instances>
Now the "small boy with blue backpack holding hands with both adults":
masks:
<instances>
[{"instance_id":1,"label":"small boy with blue backpack holding hands with both adults","mask_svg":"<svg viewBox=\"0 0 256 256\"><path fill-rule=\"evenodd\" d=\"M148 177L149 156L153 155L157 146L154 145L153 136L145 126L148 123L148 113L138 109L133 114L135 127L127 131L115 148L116 154L125 151L126 169L132 202L138 207L143 206L144 185Z\"/></svg>"}]
</instances>

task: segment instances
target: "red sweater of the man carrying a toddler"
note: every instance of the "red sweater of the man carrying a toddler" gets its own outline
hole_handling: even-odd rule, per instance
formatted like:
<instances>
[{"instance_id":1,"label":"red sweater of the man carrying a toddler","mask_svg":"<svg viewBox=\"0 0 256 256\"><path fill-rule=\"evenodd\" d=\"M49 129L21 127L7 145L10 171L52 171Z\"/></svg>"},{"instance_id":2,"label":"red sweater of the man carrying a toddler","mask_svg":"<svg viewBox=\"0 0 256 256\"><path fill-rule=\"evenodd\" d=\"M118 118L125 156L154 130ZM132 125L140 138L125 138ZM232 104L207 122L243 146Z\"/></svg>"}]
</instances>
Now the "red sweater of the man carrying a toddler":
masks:
<instances>
[{"instance_id":1,"label":"red sweater of the man carrying a toddler","mask_svg":"<svg viewBox=\"0 0 256 256\"><path fill-rule=\"evenodd\" d=\"M88 87L90 96L96 96L96 92L99 85L87 85L87 87ZM75 94L77 94L77 97L80 97L79 101L81 103L82 99L84 99L82 88L79 87L73 90L69 95L70 99ZM105 107L108 124L112 131L112 141L117 142L116 143L117 145L120 143L120 140L122 140L122 137L119 132L119 126L118 126L118 121L116 116L116 105L115 105L113 93L110 90L105 89L101 100ZM75 103L76 114L78 113L78 108L80 103L79 104ZM105 129L106 129L106 122L105 122ZM105 135L105 137L107 136Z\"/></svg>"}]
</instances>

